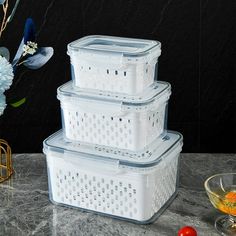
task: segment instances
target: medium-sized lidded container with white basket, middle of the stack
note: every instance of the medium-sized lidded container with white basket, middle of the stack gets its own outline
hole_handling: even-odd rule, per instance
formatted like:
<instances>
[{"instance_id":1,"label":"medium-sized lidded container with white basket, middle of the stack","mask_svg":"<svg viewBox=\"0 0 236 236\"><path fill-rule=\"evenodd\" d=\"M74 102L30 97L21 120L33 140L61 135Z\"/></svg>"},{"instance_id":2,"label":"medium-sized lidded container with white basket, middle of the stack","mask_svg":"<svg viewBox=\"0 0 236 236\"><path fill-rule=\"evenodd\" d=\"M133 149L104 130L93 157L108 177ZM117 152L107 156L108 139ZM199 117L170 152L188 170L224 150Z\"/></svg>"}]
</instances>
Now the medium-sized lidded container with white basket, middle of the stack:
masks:
<instances>
[{"instance_id":1,"label":"medium-sized lidded container with white basket, middle of the stack","mask_svg":"<svg viewBox=\"0 0 236 236\"><path fill-rule=\"evenodd\" d=\"M170 84L155 82L140 96L58 88L65 138L120 149L143 149L164 135Z\"/></svg>"}]
</instances>

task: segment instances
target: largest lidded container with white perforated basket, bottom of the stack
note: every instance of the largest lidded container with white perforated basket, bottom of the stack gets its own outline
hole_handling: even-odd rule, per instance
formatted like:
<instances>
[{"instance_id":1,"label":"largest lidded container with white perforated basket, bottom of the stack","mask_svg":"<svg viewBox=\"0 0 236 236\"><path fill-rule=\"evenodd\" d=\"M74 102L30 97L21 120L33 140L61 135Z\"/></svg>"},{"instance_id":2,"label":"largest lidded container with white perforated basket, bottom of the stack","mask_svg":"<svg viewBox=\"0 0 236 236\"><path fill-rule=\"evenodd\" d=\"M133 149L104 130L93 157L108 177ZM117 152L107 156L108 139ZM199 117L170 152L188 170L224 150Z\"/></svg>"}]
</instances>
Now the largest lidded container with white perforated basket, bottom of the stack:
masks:
<instances>
[{"instance_id":1,"label":"largest lidded container with white perforated basket, bottom of the stack","mask_svg":"<svg viewBox=\"0 0 236 236\"><path fill-rule=\"evenodd\" d=\"M96 153L93 147L84 152L59 131L44 141L50 200L136 223L151 223L177 194L182 142L181 134L168 131L161 143L152 146L148 157L111 157Z\"/></svg>"}]
</instances>

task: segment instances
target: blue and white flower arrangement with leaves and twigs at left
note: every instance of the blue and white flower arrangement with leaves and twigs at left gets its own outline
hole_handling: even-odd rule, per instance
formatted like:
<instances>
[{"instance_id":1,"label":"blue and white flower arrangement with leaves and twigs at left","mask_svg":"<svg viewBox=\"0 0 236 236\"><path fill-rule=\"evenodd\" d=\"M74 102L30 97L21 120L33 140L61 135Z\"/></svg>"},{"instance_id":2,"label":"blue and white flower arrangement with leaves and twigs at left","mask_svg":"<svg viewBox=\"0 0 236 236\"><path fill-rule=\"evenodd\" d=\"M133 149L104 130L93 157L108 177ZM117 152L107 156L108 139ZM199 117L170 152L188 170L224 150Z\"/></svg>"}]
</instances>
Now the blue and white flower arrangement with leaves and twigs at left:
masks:
<instances>
[{"instance_id":1,"label":"blue and white flower arrangement with leaves and twigs at left","mask_svg":"<svg viewBox=\"0 0 236 236\"><path fill-rule=\"evenodd\" d=\"M10 14L8 0L0 0L2 8L2 18L0 17L0 43L7 25L12 21L20 0L15 1ZM18 50L10 62L10 52L7 47L0 47L0 115L6 108L6 97L4 92L10 88L13 78L16 76L17 69L25 66L29 69L36 70L45 65L53 55L52 47L38 47L36 43L36 29L33 19L28 18L25 22L24 35ZM10 103L13 107L19 107L24 104L26 98Z\"/></svg>"}]
</instances>

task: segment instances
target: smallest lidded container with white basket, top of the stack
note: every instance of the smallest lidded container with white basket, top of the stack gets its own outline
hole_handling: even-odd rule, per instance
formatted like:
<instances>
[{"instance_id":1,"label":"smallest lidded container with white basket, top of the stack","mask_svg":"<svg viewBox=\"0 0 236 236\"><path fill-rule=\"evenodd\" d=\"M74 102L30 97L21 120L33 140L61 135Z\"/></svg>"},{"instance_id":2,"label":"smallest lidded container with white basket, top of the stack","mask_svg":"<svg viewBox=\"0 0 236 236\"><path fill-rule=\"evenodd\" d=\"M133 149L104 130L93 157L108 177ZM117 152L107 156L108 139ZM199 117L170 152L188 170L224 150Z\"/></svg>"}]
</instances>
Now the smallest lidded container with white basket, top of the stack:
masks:
<instances>
[{"instance_id":1,"label":"smallest lidded container with white basket, top of the stack","mask_svg":"<svg viewBox=\"0 0 236 236\"><path fill-rule=\"evenodd\" d=\"M68 45L75 86L137 94L157 77L157 41L87 36Z\"/></svg>"}]
</instances>

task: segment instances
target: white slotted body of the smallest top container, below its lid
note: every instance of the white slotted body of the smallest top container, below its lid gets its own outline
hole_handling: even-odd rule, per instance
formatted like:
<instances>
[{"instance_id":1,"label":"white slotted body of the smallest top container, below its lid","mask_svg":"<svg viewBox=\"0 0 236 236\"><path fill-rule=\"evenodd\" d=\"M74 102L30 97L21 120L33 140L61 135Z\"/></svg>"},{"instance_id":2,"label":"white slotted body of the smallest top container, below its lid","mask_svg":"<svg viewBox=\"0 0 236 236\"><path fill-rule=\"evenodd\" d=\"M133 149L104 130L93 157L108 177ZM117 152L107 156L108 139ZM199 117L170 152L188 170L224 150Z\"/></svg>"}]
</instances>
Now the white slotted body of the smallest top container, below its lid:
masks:
<instances>
[{"instance_id":1,"label":"white slotted body of the smallest top container, below its lid","mask_svg":"<svg viewBox=\"0 0 236 236\"><path fill-rule=\"evenodd\" d=\"M123 94L138 94L157 79L158 58L137 64L111 65L109 61L71 57L71 74L74 85L84 89L96 89ZM104 64L101 64L104 62Z\"/></svg>"}]
</instances>

